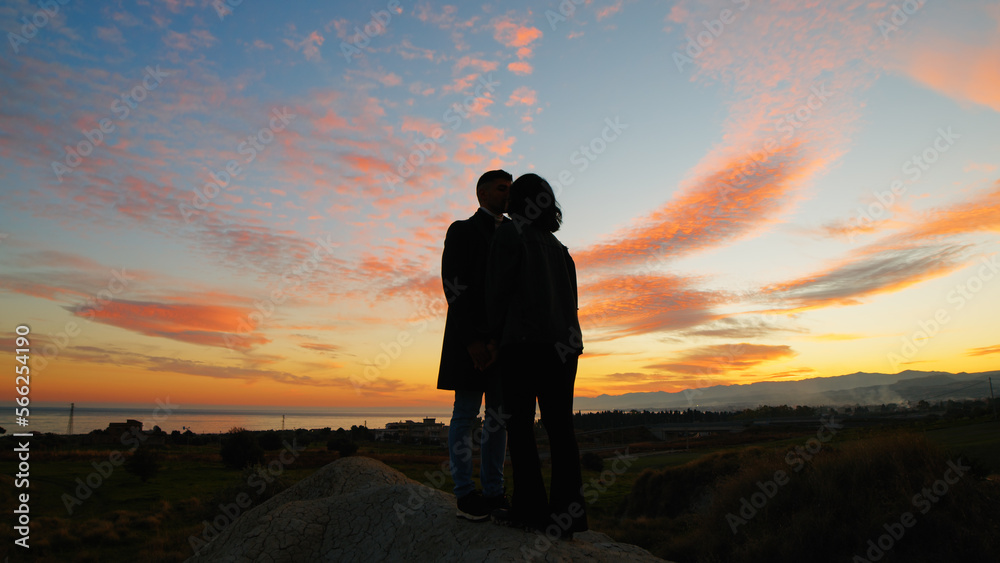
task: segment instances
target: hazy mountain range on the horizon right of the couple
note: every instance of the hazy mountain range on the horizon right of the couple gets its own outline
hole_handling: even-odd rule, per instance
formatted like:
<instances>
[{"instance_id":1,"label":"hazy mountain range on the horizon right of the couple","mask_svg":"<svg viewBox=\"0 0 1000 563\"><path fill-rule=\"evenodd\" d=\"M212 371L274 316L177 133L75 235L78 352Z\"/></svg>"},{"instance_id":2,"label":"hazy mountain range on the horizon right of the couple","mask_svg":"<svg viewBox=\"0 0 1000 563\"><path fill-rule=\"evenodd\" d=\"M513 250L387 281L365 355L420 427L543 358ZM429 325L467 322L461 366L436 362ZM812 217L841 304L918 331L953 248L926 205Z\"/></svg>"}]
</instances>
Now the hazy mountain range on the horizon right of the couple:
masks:
<instances>
[{"instance_id":1,"label":"hazy mountain range on the horizon right of the couple","mask_svg":"<svg viewBox=\"0 0 1000 563\"><path fill-rule=\"evenodd\" d=\"M989 378L1000 370L978 373L906 370L896 374L857 372L798 381L759 381L746 385L715 385L674 393L651 391L624 395L577 397L575 410L743 409L761 405L880 405L990 397ZM981 383L981 385L977 385ZM1000 392L1000 388L997 389Z\"/></svg>"}]
</instances>

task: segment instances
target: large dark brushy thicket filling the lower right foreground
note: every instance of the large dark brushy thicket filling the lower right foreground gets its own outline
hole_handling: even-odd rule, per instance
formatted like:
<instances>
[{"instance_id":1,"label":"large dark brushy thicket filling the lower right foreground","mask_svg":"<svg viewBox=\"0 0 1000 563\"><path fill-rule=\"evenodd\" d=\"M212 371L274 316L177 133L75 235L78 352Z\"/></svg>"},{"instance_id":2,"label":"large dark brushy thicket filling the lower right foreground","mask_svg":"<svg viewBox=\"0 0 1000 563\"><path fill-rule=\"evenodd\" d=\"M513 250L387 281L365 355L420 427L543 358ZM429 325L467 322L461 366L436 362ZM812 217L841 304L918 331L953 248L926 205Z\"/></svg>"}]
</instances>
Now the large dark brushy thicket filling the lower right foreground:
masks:
<instances>
[{"instance_id":1,"label":"large dark brushy thicket filling the lower right foreground","mask_svg":"<svg viewBox=\"0 0 1000 563\"><path fill-rule=\"evenodd\" d=\"M893 540L881 563L996 560L1000 488L975 463L938 501L927 502L922 491L944 483L959 456L923 436L823 444L794 464L789 451L747 448L646 470L624 503L615 537L680 561L849 561L910 513L916 527Z\"/></svg>"}]
</instances>

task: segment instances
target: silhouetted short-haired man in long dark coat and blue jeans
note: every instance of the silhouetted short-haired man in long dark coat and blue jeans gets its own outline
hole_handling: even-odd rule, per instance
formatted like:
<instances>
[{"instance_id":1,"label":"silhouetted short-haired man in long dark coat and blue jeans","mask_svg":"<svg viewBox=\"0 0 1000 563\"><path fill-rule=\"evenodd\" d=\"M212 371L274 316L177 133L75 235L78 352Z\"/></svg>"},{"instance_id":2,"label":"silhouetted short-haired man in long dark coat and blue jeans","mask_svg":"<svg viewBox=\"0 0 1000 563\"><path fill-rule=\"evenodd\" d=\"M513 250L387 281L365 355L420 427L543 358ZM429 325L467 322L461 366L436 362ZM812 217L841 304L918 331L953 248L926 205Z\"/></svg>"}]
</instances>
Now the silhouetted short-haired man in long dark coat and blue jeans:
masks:
<instances>
[{"instance_id":1,"label":"silhouetted short-haired man in long dark coat and blue jeans","mask_svg":"<svg viewBox=\"0 0 1000 563\"><path fill-rule=\"evenodd\" d=\"M448 431L451 476L458 498L458 516L488 520L490 512L507 506L503 464L507 432L501 420L500 376L496 350L487 339L486 260L493 231L505 219L507 191L512 176L491 170L479 178L479 210L448 228L441 256L441 279L448 299L438 389L455 391L455 405ZM486 416L480 441L479 478L482 492L472 481L472 425L486 396Z\"/></svg>"}]
</instances>

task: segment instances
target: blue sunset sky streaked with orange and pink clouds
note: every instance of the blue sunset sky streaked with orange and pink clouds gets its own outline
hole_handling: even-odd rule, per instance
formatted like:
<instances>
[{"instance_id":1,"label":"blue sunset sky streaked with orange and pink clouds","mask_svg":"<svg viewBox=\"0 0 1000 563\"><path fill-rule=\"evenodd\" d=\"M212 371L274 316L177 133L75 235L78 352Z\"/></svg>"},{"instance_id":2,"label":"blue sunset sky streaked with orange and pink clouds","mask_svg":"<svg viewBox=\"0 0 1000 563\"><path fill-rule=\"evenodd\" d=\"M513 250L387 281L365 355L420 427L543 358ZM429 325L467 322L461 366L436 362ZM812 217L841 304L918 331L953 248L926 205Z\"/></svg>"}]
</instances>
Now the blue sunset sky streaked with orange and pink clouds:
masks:
<instances>
[{"instance_id":1,"label":"blue sunset sky streaked with orange and pink clouds","mask_svg":"<svg viewBox=\"0 0 1000 563\"><path fill-rule=\"evenodd\" d=\"M0 6L33 401L450 403L493 168L562 205L577 396L1000 361L996 2L51 5Z\"/></svg>"}]
</instances>

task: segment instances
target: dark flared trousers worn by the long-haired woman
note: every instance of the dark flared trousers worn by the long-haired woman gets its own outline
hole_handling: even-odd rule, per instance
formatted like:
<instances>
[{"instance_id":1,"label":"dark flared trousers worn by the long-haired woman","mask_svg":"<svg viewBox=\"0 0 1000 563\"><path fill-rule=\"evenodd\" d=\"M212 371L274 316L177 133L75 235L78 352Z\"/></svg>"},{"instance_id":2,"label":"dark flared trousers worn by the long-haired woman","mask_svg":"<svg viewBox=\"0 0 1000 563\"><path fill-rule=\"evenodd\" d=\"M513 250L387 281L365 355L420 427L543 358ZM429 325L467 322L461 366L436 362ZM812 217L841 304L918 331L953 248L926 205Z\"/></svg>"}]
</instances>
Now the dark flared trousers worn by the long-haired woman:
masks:
<instances>
[{"instance_id":1,"label":"dark flared trousers worn by the long-haired woman","mask_svg":"<svg viewBox=\"0 0 1000 563\"><path fill-rule=\"evenodd\" d=\"M578 357L560 359L551 344L515 344L500 358L507 444L514 473L513 511L528 523L547 526L555 519L563 529L587 529L580 450L573 432L573 385ZM552 454L551 498L535 443L535 400L549 435ZM569 524L566 524L569 522Z\"/></svg>"}]
</instances>

